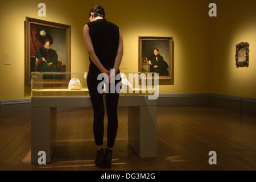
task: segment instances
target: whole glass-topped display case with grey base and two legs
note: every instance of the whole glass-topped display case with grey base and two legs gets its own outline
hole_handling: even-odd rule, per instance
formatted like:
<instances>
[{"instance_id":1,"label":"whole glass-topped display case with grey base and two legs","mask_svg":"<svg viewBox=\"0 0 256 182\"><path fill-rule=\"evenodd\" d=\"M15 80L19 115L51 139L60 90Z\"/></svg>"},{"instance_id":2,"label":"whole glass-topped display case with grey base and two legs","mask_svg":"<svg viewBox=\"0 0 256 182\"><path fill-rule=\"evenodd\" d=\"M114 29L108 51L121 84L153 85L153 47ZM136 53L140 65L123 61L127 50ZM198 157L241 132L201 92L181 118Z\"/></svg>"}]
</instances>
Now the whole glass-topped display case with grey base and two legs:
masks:
<instances>
[{"instance_id":1,"label":"whole glass-topped display case with grey base and two legs","mask_svg":"<svg viewBox=\"0 0 256 182\"><path fill-rule=\"evenodd\" d=\"M46 152L46 163L51 163L57 141L57 108L92 107L87 72L32 72L31 76L31 163L38 163L39 151ZM121 77L115 86L121 87L118 106L128 107L127 141L139 158L156 158L158 75L117 76ZM100 80L99 87L111 93L112 88L108 90L104 79Z\"/></svg>"}]
</instances>

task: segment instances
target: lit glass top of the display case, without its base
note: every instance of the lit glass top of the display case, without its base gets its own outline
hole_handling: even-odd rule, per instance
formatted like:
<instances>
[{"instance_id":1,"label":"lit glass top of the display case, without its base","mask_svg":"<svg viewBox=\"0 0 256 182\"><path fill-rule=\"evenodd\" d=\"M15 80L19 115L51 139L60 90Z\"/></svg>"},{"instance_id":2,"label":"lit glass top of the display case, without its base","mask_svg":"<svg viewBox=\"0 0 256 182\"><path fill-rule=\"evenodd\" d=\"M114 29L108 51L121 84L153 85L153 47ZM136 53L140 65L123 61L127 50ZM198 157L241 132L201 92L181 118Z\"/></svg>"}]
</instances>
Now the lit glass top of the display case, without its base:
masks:
<instances>
[{"instance_id":1,"label":"lit glass top of the display case, without its base","mask_svg":"<svg viewBox=\"0 0 256 182\"><path fill-rule=\"evenodd\" d=\"M158 94L158 75L151 72L120 73L120 96L140 96ZM32 97L89 96L86 82L87 72L31 72ZM101 77L103 90L112 93ZM114 90L116 90L114 88ZM119 87L120 88L120 87Z\"/></svg>"}]
</instances>

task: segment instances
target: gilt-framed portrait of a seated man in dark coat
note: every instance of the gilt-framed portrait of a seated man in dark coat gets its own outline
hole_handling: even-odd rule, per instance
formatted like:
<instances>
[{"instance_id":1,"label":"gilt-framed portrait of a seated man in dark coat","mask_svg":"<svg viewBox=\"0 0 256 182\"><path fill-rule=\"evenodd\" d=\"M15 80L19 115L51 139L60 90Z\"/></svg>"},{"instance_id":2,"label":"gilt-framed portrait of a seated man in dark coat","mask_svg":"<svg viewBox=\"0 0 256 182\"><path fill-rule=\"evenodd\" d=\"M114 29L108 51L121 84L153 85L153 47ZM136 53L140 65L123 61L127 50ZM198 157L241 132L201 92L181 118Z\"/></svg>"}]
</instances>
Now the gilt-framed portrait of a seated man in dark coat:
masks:
<instances>
[{"instance_id":1,"label":"gilt-framed portrait of a seated man in dark coat","mask_svg":"<svg viewBox=\"0 0 256 182\"><path fill-rule=\"evenodd\" d=\"M174 40L172 37L139 36L139 72L155 72L160 80L173 79Z\"/></svg>"}]
</instances>

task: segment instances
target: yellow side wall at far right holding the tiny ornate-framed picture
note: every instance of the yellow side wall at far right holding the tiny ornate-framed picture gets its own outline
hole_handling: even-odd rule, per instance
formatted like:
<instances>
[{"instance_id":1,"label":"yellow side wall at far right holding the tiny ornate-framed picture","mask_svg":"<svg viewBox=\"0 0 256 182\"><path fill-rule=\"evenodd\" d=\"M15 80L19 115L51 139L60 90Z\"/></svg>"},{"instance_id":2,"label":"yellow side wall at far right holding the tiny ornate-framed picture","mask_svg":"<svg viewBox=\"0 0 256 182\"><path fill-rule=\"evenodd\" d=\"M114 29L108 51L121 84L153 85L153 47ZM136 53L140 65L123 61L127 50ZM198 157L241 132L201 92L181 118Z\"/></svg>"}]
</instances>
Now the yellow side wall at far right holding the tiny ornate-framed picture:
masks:
<instances>
[{"instance_id":1,"label":"yellow side wall at far right holding the tiny ornate-framed picture","mask_svg":"<svg viewBox=\"0 0 256 182\"><path fill-rule=\"evenodd\" d=\"M256 1L214 1L211 20L210 93L256 98ZM249 67L236 67L236 45L248 42Z\"/></svg>"}]
</instances>

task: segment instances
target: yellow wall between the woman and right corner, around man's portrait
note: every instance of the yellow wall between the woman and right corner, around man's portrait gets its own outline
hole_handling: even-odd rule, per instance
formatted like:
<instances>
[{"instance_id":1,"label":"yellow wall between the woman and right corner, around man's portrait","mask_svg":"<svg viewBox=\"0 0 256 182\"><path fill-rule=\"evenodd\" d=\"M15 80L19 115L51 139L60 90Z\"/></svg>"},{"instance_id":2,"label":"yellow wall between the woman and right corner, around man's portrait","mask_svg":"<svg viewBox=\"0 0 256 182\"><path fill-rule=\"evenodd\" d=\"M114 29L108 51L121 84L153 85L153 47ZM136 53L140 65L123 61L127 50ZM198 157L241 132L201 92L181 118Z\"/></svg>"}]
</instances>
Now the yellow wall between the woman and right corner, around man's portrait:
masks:
<instances>
[{"instance_id":1,"label":"yellow wall between the woman and right corner, around man's portrait","mask_svg":"<svg viewBox=\"0 0 256 182\"><path fill-rule=\"evenodd\" d=\"M123 72L138 72L138 37L174 38L174 80L160 80L160 94L208 93L207 51L195 56L198 48L207 48L208 16L205 1L105 1L106 18L118 24L123 34ZM204 76L202 76L204 75Z\"/></svg>"}]
</instances>

